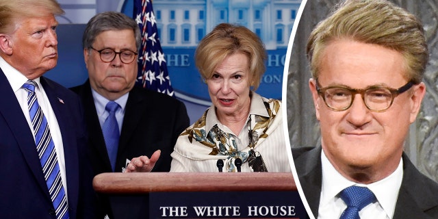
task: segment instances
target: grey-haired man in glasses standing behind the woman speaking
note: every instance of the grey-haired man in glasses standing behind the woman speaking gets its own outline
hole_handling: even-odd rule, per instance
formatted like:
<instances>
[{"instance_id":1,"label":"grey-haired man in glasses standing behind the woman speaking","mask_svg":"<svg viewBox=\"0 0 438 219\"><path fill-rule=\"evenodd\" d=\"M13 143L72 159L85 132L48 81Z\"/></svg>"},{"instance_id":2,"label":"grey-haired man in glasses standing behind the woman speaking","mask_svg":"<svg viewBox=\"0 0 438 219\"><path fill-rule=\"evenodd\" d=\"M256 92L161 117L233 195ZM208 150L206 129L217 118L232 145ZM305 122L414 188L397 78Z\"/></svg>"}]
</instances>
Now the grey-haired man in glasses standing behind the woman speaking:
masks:
<instances>
[{"instance_id":1,"label":"grey-haired man in glasses standing behind the woman speaking","mask_svg":"<svg viewBox=\"0 0 438 219\"><path fill-rule=\"evenodd\" d=\"M119 12L96 14L83 33L89 79L72 90L84 107L94 175L123 172L133 157L146 164L145 172L168 172L175 142L189 126L183 103L134 86L140 38L136 21ZM149 196L99 198L97 218L149 215Z\"/></svg>"}]
</instances>

